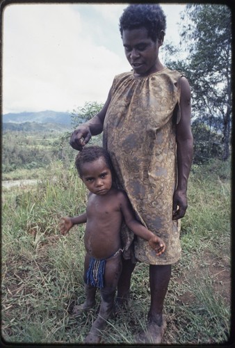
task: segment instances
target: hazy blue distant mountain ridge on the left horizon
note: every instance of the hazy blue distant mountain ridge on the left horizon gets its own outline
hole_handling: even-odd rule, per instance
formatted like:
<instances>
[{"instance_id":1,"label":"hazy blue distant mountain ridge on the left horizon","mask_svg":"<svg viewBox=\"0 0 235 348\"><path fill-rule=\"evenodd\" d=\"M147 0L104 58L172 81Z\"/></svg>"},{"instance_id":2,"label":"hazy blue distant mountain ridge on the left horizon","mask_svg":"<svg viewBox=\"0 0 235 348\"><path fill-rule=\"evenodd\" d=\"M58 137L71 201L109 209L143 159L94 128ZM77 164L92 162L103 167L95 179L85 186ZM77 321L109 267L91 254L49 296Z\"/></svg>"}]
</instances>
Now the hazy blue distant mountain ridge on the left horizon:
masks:
<instances>
[{"instance_id":1,"label":"hazy blue distant mountain ridge on the left horizon","mask_svg":"<svg viewBox=\"0 0 235 348\"><path fill-rule=\"evenodd\" d=\"M3 115L3 123L14 122L38 122L38 123L60 123L61 125L71 125L71 114L68 112L57 111L39 111L39 112L21 112L6 113Z\"/></svg>"}]
</instances>

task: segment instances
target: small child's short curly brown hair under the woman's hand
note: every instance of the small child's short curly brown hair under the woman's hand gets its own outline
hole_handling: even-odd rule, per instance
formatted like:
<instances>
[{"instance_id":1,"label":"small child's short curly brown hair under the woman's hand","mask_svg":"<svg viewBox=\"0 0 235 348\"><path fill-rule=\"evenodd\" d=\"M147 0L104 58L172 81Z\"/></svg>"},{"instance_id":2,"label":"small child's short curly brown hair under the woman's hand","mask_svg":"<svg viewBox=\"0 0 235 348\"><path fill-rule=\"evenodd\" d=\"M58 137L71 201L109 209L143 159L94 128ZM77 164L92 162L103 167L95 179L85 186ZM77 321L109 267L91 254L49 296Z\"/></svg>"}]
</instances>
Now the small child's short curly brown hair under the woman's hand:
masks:
<instances>
[{"instance_id":1,"label":"small child's short curly brown hair under the woman's hand","mask_svg":"<svg viewBox=\"0 0 235 348\"><path fill-rule=\"evenodd\" d=\"M113 167L108 152L101 146L85 146L83 150L79 151L75 159L75 166L79 177L83 176L83 164L96 161L100 157L104 158L106 166L112 171Z\"/></svg>"}]
</instances>

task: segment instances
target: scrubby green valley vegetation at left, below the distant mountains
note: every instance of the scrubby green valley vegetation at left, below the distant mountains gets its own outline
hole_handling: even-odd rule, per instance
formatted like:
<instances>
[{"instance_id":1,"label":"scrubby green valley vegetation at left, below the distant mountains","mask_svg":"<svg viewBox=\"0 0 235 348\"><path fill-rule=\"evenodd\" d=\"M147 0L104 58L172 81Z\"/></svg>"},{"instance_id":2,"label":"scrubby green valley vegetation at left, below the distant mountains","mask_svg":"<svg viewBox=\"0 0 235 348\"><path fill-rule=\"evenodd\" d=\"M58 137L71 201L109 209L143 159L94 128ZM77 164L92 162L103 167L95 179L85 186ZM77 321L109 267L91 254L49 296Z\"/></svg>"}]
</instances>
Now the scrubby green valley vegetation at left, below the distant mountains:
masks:
<instances>
[{"instance_id":1,"label":"scrubby green valley vegetation at left, below the distant mountains","mask_svg":"<svg viewBox=\"0 0 235 348\"><path fill-rule=\"evenodd\" d=\"M64 130L63 130L64 132ZM68 132L67 134L70 134ZM51 131L40 132L3 132L2 137L2 173L3 180L38 178L38 171L48 169L54 161L71 161L74 150L63 133ZM23 175L20 173L24 173ZM17 173L16 173L17 172ZM18 177L17 177L18 176Z\"/></svg>"}]
</instances>

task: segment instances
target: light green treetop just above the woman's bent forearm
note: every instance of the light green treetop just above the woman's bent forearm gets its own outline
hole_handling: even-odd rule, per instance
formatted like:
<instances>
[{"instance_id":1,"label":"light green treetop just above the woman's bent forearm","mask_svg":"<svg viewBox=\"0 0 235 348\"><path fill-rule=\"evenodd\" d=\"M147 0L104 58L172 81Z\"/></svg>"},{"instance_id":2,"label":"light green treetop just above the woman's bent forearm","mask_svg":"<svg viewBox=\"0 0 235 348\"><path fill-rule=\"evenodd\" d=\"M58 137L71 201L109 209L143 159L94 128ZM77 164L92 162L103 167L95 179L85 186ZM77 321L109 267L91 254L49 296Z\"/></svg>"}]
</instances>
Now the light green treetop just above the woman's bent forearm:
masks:
<instances>
[{"instance_id":1,"label":"light green treetop just above the woman's bent forearm","mask_svg":"<svg viewBox=\"0 0 235 348\"><path fill-rule=\"evenodd\" d=\"M72 112L72 125L76 127L79 123L90 120L103 106L104 104L98 102L86 102L84 106L79 106Z\"/></svg>"}]
</instances>

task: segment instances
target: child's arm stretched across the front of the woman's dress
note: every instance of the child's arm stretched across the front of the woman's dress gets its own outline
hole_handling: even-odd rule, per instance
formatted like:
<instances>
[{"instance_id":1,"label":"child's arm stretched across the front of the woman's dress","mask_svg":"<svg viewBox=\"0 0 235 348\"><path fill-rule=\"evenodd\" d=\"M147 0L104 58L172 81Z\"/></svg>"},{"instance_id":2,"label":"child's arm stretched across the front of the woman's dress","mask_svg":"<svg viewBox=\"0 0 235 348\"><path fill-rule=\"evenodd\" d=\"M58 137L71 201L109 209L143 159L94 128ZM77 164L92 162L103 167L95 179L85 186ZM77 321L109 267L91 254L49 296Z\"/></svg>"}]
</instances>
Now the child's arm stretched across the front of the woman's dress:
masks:
<instances>
[{"instance_id":1,"label":"child's arm stretched across the front of the woman's dress","mask_svg":"<svg viewBox=\"0 0 235 348\"><path fill-rule=\"evenodd\" d=\"M142 237L143 239L147 240L149 242L149 246L156 251L156 255L161 255L165 251L165 243L163 240L154 235L151 231L147 230L145 226L143 226L140 222L136 220L136 217L134 215L133 209L131 207L131 203L129 201L129 198L127 197L127 194L124 192L118 193L120 195L121 199L121 205L120 209L122 211L122 214L124 216L124 221L135 235L138 235L139 237Z\"/></svg>"}]
</instances>

